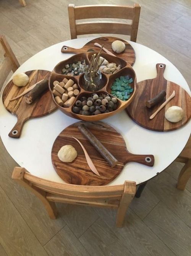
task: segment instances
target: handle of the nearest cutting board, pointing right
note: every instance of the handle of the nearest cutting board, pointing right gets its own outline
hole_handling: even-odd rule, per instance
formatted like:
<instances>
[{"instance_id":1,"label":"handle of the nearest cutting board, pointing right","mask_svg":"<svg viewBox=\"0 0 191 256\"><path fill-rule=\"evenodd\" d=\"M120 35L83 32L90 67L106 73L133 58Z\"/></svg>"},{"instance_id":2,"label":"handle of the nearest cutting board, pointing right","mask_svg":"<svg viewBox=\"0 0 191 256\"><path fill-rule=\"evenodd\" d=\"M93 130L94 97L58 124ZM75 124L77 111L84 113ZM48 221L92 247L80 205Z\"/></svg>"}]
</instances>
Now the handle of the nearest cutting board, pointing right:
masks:
<instances>
[{"instance_id":1,"label":"handle of the nearest cutting board, pointing right","mask_svg":"<svg viewBox=\"0 0 191 256\"><path fill-rule=\"evenodd\" d=\"M128 162L137 162L139 164L144 164L152 167L154 165L154 161L155 161L154 155L135 155L135 154L129 153L125 164Z\"/></svg>"}]
</instances>

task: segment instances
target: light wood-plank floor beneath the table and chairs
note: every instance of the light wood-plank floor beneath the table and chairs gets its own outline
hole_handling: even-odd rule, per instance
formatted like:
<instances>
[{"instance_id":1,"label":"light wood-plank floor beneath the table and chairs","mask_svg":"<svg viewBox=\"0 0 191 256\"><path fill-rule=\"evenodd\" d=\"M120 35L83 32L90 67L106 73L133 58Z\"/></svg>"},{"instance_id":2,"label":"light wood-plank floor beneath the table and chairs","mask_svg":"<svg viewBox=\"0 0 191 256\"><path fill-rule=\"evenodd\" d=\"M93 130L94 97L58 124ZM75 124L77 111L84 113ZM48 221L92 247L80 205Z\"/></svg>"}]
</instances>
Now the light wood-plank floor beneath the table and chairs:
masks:
<instances>
[{"instance_id":1,"label":"light wood-plank floor beneath the table and chairs","mask_svg":"<svg viewBox=\"0 0 191 256\"><path fill-rule=\"evenodd\" d=\"M23 8L18 0L0 0L0 33L6 35L20 64L70 39L68 3L92 1L26 3ZM137 42L169 59L191 86L191 1L139 3ZM58 219L50 220L40 201L11 180L15 165L1 142L0 256L191 256L191 180L185 191L175 187L182 164L173 163L148 182L141 198L134 198L121 229L115 228L115 211L84 206L58 204Z\"/></svg>"}]
</instances>

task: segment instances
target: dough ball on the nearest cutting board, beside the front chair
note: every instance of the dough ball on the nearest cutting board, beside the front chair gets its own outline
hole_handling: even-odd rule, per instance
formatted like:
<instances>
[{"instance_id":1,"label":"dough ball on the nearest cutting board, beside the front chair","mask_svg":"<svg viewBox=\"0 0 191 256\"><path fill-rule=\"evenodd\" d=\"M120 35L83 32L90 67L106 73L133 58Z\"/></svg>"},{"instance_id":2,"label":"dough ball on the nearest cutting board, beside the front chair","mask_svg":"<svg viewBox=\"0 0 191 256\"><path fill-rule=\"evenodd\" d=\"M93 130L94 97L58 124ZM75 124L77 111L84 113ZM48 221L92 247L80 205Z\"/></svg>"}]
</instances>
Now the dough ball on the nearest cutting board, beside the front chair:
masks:
<instances>
[{"instance_id":1,"label":"dough ball on the nearest cutting board, beside the front chair","mask_svg":"<svg viewBox=\"0 0 191 256\"><path fill-rule=\"evenodd\" d=\"M58 151L58 158L60 161L66 163L72 162L77 157L77 155L78 153L72 145L65 145Z\"/></svg>"}]
</instances>

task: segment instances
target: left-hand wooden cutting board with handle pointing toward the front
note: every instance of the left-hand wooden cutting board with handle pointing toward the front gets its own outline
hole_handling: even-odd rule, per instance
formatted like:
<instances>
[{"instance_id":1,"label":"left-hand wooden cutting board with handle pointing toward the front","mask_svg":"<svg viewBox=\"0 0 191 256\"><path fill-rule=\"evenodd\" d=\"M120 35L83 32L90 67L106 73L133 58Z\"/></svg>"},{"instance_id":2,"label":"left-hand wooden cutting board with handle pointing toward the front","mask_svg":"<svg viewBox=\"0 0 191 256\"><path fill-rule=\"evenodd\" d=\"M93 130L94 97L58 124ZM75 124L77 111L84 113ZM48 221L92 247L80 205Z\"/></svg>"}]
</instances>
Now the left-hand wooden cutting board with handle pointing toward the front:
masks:
<instances>
[{"instance_id":1,"label":"left-hand wooden cutting board with handle pointing toward the front","mask_svg":"<svg viewBox=\"0 0 191 256\"><path fill-rule=\"evenodd\" d=\"M21 130L24 122L30 118L45 116L57 108L52 101L49 88L47 88L47 91L32 104L27 104L23 100L23 96L15 101L9 101L38 81L42 79L49 79L50 73L51 72L47 70L27 71L25 74L29 76L29 83L26 86L18 87L13 84L12 80L6 85L2 96L3 104L11 114L18 118L17 123L9 133L9 137L16 139L19 138L21 136Z\"/></svg>"}]
</instances>

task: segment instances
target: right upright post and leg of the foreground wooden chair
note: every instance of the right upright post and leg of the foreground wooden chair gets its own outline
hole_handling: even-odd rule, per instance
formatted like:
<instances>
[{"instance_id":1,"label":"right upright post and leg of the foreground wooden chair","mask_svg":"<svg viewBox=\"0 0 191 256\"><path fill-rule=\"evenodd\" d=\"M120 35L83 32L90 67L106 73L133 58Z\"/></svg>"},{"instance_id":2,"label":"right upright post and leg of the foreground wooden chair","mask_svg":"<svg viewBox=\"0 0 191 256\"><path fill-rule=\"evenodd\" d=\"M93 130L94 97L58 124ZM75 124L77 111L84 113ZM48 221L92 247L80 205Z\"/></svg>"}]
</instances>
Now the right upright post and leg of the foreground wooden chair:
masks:
<instances>
[{"instance_id":1,"label":"right upright post and leg of the foreground wooden chair","mask_svg":"<svg viewBox=\"0 0 191 256\"><path fill-rule=\"evenodd\" d=\"M129 204L133 200L135 193L136 193L136 182L125 181L124 193L120 200L119 208L117 211L117 217L116 217L117 228L123 227L123 222L124 222L126 211L129 207Z\"/></svg>"}]
</instances>

